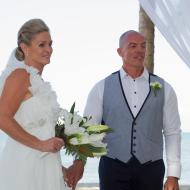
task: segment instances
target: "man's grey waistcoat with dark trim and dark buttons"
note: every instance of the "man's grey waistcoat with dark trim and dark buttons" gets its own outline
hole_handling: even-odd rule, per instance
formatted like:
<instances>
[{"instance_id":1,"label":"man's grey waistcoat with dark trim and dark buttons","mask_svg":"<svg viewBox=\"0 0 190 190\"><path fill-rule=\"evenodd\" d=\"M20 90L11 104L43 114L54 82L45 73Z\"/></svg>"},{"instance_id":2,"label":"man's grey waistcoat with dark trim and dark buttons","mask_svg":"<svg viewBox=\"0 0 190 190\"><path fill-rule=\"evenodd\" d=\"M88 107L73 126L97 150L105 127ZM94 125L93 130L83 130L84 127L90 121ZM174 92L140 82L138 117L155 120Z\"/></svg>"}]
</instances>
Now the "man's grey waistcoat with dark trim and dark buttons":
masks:
<instances>
[{"instance_id":1,"label":"man's grey waistcoat with dark trim and dark buttons","mask_svg":"<svg viewBox=\"0 0 190 190\"><path fill-rule=\"evenodd\" d=\"M164 81L149 74L149 83L154 81L162 84L162 88L156 91L156 96L150 88L139 113L134 117L119 72L105 79L102 122L114 130L105 138L108 157L127 162L135 156L141 163L162 159Z\"/></svg>"}]
</instances>

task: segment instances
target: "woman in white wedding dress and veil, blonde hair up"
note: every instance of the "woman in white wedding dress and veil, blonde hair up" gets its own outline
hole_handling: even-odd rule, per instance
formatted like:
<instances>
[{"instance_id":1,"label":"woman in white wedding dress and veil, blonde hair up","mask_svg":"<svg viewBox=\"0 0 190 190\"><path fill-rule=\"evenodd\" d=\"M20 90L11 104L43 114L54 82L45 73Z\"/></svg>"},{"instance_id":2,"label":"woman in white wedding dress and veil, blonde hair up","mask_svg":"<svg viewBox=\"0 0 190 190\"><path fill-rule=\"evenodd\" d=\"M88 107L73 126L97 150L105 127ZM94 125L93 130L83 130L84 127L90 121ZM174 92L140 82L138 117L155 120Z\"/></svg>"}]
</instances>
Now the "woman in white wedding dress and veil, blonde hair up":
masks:
<instances>
[{"instance_id":1,"label":"woman in white wedding dress and veil, blonde hair up","mask_svg":"<svg viewBox=\"0 0 190 190\"><path fill-rule=\"evenodd\" d=\"M55 137L54 128L60 107L41 78L51 45L47 25L29 20L1 75L0 128L9 137L0 154L0 190L67 189L59 153L64 142Z\"/></svg>"}]
</instances>

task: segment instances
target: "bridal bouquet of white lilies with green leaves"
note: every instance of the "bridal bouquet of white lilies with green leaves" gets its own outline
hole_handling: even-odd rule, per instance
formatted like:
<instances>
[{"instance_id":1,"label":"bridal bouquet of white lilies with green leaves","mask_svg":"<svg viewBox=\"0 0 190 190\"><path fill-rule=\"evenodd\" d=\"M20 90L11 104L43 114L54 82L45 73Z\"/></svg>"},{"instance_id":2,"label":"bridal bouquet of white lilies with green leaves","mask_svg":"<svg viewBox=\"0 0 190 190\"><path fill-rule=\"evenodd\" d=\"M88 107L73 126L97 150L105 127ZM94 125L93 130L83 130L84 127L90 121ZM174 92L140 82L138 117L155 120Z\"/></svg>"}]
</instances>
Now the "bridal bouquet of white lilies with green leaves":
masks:
<instances>
[{"instance_id":1,"label":"bridal bouquet of white lilies with green leaves","mask_svg":"<svg viewBox=\"0 0 190 190\"><path fill-rule=\"evenodd\" d=\"M62 110L55 127L56 136L65 141L66 154L75 156L84 164L87 157L107 154L107 144L102 140L106 132L112 131L107 125L90 125L90 119L78 115L74 103L70 111Z\"/></svg>"}]
</instances>

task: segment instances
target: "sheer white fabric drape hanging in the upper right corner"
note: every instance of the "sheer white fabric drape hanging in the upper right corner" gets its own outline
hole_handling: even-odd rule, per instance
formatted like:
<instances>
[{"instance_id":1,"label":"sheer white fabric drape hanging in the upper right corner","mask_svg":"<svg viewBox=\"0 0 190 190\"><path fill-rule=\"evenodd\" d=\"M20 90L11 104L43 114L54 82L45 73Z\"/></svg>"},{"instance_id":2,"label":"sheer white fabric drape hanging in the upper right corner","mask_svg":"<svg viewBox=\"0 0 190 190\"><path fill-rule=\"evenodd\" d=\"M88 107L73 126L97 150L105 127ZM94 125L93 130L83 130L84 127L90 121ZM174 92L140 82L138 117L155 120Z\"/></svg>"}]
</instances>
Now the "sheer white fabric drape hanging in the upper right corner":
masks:
<instances>
[{"instance_id":1,"label":"sheer white fabric drape hanging in the upper right corner","mask_svg":"<svg viewBox=\"0 0 190 190\"><path fill-rule=\"evenodd\" d=\"M155 26L190 68L190 1L139 0Z\"/></svg>"}]
</instances>

